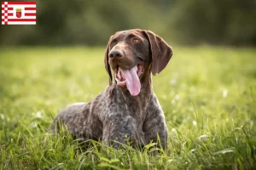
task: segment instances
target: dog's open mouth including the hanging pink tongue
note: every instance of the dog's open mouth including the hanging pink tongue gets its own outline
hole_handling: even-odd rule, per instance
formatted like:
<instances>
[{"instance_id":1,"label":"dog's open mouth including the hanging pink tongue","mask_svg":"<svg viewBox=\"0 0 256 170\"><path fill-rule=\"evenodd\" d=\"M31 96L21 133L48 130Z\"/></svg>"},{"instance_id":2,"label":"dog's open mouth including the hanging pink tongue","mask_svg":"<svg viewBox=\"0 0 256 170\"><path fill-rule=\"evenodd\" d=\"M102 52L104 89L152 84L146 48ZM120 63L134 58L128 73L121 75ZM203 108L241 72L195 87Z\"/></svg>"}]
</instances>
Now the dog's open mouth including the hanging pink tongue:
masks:
<instances>
[{"instance_id":1,"label":"dog's open mouth including the hanging pink tongue","mask_svg":"<svg viewBox=\"0 0 256 170\"><path fill-rule=\"evenodd\" d=\"M137 96L140 93L140 77L143 73L143 64L137 64L130 70L123 69L117 65L113 72L119 88L127 88L132 96Z\"/></svg>"}]
</instances>

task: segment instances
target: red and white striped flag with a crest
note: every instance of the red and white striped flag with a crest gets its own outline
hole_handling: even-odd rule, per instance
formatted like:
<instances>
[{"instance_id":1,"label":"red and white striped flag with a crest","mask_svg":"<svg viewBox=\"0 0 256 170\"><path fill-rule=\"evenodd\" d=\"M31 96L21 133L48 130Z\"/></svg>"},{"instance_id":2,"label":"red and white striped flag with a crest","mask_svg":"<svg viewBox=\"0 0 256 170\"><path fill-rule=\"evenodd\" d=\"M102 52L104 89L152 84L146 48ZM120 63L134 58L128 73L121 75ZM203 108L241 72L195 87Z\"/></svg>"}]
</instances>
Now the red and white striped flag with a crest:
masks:
<instances>
[{"instance_id":1,"label":"red and white striped flag with a crest","mask_svg":"<svg viewBox=\"0 0 256 170\"><path fill-rule=\"evenodd\" d=\"M36 2L2 2L2 25L36 25Z\"/></svg>"}]
</instances>

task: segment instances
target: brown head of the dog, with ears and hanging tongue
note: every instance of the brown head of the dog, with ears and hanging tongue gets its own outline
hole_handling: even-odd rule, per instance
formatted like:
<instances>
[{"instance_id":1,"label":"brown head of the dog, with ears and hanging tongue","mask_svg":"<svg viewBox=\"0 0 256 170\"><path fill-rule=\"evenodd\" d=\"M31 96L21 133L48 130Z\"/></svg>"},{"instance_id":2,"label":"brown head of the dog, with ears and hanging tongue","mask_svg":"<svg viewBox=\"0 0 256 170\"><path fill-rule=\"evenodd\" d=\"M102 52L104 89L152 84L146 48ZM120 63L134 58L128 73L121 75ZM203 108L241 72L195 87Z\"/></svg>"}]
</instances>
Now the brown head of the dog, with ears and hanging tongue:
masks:
<instances>
[{"instance_id":1,"label":"brown head of the dog, with ears and hanging tongue","mask_svg":"<svg viewBox=\"0 0 256 170\"><path fill-rule=\"evenodd\" d=\"M127 88L132 96L140 93L141 83L160 73L172 57L172 48L152 31L118 31L109 38L105 68L109 85ZM113 77L112 72L113 70Z\"/></svg>"}]
</instances>

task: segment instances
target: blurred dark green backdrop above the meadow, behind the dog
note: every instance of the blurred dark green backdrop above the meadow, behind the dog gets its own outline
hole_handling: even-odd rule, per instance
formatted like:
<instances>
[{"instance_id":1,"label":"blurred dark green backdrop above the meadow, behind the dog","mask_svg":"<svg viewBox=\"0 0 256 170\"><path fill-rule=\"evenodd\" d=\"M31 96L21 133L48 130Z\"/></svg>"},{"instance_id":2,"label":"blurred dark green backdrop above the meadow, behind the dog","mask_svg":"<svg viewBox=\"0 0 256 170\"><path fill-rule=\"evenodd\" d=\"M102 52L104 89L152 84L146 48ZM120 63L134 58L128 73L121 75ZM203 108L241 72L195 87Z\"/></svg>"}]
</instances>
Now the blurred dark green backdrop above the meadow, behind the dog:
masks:
<instances>
[{"instance_id":1,"label":"blurred dark green backdrop above the meadow, behind the dog","mask_svg":"<svg viewBox=\"0 0 256 170\"><path fill-rule=\"evenodd\" d=\"M0 26L0 46L105 46L115 31L172 45L256 45L256 0L38 0L36 26Z\"/></svg>"}]
</instances>

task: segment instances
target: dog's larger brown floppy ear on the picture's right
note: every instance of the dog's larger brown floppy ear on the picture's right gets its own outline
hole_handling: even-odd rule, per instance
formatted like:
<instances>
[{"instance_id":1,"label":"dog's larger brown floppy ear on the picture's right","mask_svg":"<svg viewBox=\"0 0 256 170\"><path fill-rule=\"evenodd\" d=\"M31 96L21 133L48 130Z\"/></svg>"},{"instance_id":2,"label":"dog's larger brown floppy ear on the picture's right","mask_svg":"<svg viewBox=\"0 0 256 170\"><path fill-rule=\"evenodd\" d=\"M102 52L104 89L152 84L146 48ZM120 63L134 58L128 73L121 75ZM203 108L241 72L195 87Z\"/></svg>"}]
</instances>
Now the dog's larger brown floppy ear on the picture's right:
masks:
<instances>
[{"instance_id":1,"label":"dog's larger brown floppy ear on the picture's right","mask_svg":"<svg viewBox=\"0 0 256 170\"><path fill-rule=\"evenodd\" d=\"M172 48L152 31L144 31L148 37L150 51L152 55L152 74L160 73L164 70L172 57Z\"/></svg>"}]
</instances>

